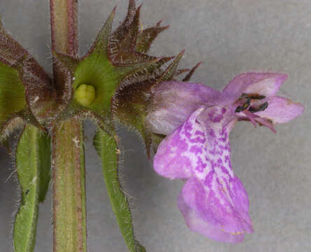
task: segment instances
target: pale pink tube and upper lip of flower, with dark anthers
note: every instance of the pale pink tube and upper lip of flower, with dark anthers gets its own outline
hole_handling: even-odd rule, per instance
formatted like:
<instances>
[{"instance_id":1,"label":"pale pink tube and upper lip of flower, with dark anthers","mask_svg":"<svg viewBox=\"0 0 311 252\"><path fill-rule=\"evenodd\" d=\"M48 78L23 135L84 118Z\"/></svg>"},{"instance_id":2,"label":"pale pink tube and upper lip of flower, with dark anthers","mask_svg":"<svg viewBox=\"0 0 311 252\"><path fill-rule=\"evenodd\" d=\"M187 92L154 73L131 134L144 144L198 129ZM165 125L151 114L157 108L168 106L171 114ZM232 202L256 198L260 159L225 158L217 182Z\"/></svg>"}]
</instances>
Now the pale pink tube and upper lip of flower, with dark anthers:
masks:
<instances>
[{"instance_id":1,"label":"pale pink tube and upper lip of flower, with dark anthers","mask_svg":"<svg viewBox=\"0 0 311 252\"><path fill-rule=\"evenodd\" d=\"M148 127L158 134L170 134L199 106L235 106L237 109L249 98L249 113L239 109L237 119L249 120L254 125L259 123L275 131L273 125L289 122L304 110L301 104L276 95L286 78L282 73L242 73L222 92L201 83L159 83L153 90L152 109L146 118Z\"/></svg>"}]
</instances>

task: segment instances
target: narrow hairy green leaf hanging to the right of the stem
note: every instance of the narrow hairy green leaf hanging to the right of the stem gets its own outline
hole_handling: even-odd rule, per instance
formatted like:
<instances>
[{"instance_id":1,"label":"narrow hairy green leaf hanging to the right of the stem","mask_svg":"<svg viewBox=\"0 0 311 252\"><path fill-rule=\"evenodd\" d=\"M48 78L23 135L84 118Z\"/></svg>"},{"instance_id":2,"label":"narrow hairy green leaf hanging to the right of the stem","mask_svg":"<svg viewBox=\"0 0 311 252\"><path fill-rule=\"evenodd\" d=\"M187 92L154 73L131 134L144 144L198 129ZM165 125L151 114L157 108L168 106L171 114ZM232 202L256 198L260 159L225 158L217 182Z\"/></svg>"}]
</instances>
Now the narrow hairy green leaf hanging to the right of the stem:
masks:
<instances>
[{"instance_id":1,"label":"narrow hairy green leaf hanging to the right of the stem","mask_svg":"<svg viewBox=\"0 0 311 252\"><path fill-rule=\"evenodd\" d=\"M118 155L120 151L118 149L116 135L111 136L111 134L103 130L97 130L94 138L94 146L102 159L107 192L127 248L130 252L144 252L146 248L134 239L130 206L118 180Z\"/></svg>"}]
</instances>

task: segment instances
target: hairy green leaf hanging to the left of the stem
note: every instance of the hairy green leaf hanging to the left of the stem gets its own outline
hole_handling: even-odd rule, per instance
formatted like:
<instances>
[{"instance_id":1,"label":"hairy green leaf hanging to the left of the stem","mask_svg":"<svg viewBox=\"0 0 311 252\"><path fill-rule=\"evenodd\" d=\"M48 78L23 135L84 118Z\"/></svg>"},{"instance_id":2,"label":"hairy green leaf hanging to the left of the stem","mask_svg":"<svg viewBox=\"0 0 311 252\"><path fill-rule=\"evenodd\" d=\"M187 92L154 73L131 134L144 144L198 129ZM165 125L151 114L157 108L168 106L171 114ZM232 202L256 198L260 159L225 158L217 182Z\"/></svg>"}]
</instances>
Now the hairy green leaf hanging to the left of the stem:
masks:
<instances>
[{"instance_id":1,"label":"hairy green leaf hanging to the left of the stem","mask_svg":"<svg viewBox=\"0 0 311 252\"><path fill-rule=\"evenodd\" d=\"M16 152L16 167L21 189L21 204L15 216L15 252L32 252L36 239L39 202L43 202L50 183L50 137L27 125Z\"/></svg>"}]
</instances>

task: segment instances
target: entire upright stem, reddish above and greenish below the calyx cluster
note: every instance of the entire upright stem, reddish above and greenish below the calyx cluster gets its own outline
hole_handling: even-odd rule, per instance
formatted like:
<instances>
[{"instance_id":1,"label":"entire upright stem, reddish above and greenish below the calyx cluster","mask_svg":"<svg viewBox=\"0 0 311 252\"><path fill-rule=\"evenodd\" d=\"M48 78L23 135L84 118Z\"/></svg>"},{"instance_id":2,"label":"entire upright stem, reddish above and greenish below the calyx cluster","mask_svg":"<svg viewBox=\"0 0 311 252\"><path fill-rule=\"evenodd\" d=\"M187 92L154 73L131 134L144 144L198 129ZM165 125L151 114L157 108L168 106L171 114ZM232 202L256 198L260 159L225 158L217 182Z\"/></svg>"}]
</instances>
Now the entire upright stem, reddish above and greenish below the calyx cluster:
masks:
<instances>
[{"instance_id":1,"label":"entire upright stem, reddish above and greenish below the calyx cluster","mask_svg":"<svg viewBox=\"0 0 311 252\"><path fill-rule=\"evenodd\" d=\"M52 48L67 55L78 52L78 1L50 0ZM55 86L64 87L54 66ZM53 129L53 221L55 252L86 251L83 127L71 118Z\"/></svg>"}]
</instances>

